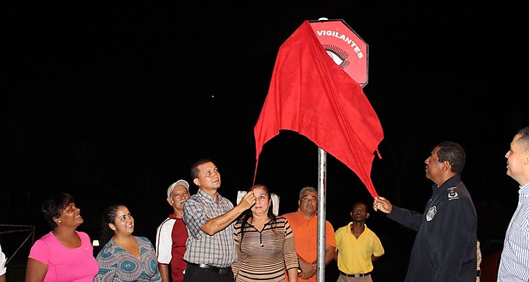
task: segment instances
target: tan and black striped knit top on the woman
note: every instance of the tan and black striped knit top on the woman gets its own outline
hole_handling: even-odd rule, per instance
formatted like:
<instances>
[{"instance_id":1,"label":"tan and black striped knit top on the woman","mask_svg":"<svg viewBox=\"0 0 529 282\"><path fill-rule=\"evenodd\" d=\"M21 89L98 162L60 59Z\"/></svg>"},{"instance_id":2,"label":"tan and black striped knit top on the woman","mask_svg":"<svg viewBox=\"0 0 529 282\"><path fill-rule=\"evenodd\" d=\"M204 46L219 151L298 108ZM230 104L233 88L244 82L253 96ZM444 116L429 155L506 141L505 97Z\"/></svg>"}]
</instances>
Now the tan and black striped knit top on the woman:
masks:
<instances>
[{"instance_id":1,"label":"tan and black striped knit top on the woman","mask_svg":"<svg viewBox=\"0 0 529 282\"><path fill-rule=\"evenodd\" d=\"M262 230L246 224L244 237L242 226L241 221L235 224L237 259L232 264L235 281L286 281L286 271L298 267L289 221L276 217L275 222L264 224Z\"/></svg>"}]
</instances>

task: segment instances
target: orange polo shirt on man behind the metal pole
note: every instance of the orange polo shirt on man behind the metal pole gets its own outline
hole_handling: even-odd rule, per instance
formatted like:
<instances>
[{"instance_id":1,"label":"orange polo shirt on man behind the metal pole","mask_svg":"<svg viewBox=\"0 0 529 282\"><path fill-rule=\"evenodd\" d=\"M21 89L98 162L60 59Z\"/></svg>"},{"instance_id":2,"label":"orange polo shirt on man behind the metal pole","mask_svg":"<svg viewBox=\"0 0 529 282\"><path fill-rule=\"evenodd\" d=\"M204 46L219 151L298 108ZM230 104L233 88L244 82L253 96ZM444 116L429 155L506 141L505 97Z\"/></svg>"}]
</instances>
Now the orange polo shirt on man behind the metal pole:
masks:
<instances>
[{"instance_id":1,"label":"orange polo shirt on man behind the metal pole","mask_svg":"<svg viewBox=\"0 0 529 282\"><path fill-rule=\"evenodd\" d=\"M318 257L318 217L317 215L311 219L306 219L298 208L294 213L286 213L282 215L286 217L292 228L294 234L295 251L297 254L308 261L309 263L316 261ZM335 229L329 221L325 221L325 245L336 247ZM317 274L310 279L302 279L302 281L317 281Z\"/></svg>"}]
</instances>

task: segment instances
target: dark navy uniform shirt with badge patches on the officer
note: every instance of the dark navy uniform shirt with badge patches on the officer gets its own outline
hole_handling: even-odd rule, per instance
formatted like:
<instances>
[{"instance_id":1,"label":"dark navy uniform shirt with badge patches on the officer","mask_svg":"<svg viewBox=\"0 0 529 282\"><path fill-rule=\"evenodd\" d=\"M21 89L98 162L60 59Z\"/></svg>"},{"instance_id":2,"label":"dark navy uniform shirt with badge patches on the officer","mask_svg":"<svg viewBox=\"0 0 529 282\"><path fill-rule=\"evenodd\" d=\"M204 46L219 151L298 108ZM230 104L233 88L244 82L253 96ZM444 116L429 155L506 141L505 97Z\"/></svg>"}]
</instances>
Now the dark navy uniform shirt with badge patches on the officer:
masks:
<instances>
[{"instance_id":1,"label":"dark navy uniform shirt with badge patches on the officer","mask_svg":"<svg viewBox=\"0 0 529 282\"><path fill-rule=\"evenodd\" d=\"M468 281L476 279L477 215L460 175L433 193L423 214L393 206L387 215L417 230L405 281Z\"/></svg>"}]
</instances>

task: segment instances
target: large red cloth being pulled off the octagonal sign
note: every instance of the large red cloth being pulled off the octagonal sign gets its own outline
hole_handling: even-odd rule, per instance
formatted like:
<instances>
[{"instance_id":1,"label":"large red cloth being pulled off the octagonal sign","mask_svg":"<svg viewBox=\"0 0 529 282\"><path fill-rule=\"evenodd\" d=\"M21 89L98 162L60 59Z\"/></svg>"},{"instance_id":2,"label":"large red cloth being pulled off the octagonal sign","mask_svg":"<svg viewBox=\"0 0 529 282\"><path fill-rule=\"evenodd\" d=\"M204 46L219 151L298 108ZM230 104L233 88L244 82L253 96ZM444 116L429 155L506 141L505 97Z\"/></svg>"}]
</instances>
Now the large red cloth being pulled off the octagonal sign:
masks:
<instances>
[{"instance_id":1,"label":"large red cloth being pulled off the octagonal sign","mask_svg":"<svg viewBox=\"0 0 529 282\"><path fill-rule=\"evenodd\" d=\"M362 87L319 43L310 23L280 47L267 98L254 127L256 173L264 143L280 129L300 133L354 171L373 197L374 152L383 131ZM379 154L380 156L380 154Z\"/></svg>"}]
</instances>

